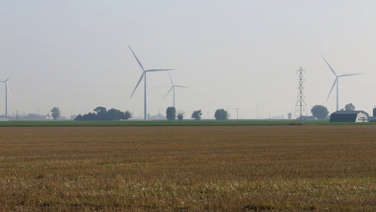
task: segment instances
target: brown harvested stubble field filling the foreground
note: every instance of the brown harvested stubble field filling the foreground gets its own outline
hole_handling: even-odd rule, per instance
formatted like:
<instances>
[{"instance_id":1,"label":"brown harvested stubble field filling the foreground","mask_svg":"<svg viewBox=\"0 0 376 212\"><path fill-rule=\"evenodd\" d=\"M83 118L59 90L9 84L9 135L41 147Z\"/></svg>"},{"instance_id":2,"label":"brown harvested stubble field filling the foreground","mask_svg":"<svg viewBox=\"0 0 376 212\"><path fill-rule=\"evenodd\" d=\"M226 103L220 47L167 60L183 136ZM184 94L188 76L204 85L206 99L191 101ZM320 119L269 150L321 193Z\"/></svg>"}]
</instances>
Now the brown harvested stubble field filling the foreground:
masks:
<instances>
[{"instance_id":1,"label":"brown harvested stubble field filling the foreground","mask_svg":"<svg viewBox=\"0 0 376 212\"><path fill-rule=\"evenodd\" d=\"M1 211L376 211L376 126L0 128Z\"/></svg>"}]
</instances>

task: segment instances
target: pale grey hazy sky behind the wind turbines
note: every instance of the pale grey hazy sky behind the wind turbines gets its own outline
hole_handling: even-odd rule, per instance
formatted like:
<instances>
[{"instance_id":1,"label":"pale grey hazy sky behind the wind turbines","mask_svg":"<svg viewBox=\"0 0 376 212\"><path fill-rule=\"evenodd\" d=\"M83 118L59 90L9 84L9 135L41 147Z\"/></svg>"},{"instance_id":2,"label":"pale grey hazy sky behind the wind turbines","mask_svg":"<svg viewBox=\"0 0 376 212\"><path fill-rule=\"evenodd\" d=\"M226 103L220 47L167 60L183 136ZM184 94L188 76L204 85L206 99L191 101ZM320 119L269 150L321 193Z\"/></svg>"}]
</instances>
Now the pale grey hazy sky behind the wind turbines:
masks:
<instances>
[{"instance_id":1,"label":"pale grey hazy sky behind the wind turbines","mask_svg":"<svg viewBox=\"0 0 376 212\"><path fill-rule=\"evenodd\" d=\"M306 69L308 111L353 103L372 114L376 104L376 2L346 1L2 1L0 81L9 79L8 114L67 118L97 106L143 118L142 69L170 71L176 109L223 108L236 118L294 114L298 75ZM167 72L147 74L147 113L172 106ZM5 84L0 114L5 114ZM262 100L261 100L262 99ZM256 110L256 103L264 104ZM262 113L263 111L263 113ZM310 114L310 112L309 112Z\"/></svg>"}]
</instances>

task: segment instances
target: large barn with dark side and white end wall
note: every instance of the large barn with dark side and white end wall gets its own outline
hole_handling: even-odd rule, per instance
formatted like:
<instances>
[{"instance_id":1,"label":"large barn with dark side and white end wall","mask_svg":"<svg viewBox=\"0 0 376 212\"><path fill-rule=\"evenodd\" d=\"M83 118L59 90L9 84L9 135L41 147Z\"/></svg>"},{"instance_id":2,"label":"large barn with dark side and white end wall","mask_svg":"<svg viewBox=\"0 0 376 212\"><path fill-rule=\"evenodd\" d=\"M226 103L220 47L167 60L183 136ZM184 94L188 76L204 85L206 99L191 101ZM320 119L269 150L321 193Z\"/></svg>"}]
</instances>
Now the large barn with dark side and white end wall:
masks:
<instances>
[{"instance_id":1,"label":"large barn with dark side and white end wall","mask_svg":"<svg viewBox=\"0 0 376 212\"><path fill-rule=\"evenodd\" d=\"M369 122L368 113L364 111L335 111L329 122Z\"/></svg>"}]
</instances>

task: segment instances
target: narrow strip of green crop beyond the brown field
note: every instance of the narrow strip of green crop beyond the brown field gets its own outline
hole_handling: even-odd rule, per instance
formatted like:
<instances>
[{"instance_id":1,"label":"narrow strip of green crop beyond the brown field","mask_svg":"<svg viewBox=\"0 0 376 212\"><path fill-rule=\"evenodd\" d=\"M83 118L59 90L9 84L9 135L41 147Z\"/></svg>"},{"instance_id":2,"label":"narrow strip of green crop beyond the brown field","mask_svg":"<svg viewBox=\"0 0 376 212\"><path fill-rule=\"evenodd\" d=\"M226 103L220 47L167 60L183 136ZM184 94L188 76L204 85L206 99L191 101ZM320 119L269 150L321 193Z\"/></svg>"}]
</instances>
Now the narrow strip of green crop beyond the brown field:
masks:
<instances>
[{"instance_id":1,"label":"narrow strip of green crop beyond the brown field","mask_svg":"<svg viewBox=\"0 0 376 212\"><path fill-rule=\"evenodd\" d=\"M28 126L282 126L282 125L374 125L376 122L352 123L329 121L293 121L293 120L187 120L187 121L3 121L0 127Z\"/></svg>"}]
</instances>

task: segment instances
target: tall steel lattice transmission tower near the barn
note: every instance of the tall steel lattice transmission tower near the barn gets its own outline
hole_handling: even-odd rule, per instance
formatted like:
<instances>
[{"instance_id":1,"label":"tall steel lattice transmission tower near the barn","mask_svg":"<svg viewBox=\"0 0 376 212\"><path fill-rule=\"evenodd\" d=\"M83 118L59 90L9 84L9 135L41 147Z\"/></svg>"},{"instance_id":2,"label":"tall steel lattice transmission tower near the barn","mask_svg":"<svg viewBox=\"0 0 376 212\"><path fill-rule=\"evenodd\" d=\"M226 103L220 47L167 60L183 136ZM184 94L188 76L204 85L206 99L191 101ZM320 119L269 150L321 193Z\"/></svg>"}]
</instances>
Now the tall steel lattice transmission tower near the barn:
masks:
<instances>
[{"instance_id":1,"label":"tall steel lattice transmission tower near the barn","mask_svg":"<svg viewBox=\"0 0 376 212\"><path fill-rule=\"evenodd\" d=\"M300 67L299 70L296 70L296 74L299 75L299 90L298 90L298 96L296 98L296 105L295 105L295 112L294 112L294 118L297 121L305 121L305 117L308 116L307 113L307 105L305 103L305 96L304 96L304 87L303 87L303 81L305 79L303 78L303 72L305 73L305 70Z\"/></svg>"}]
</instances>

